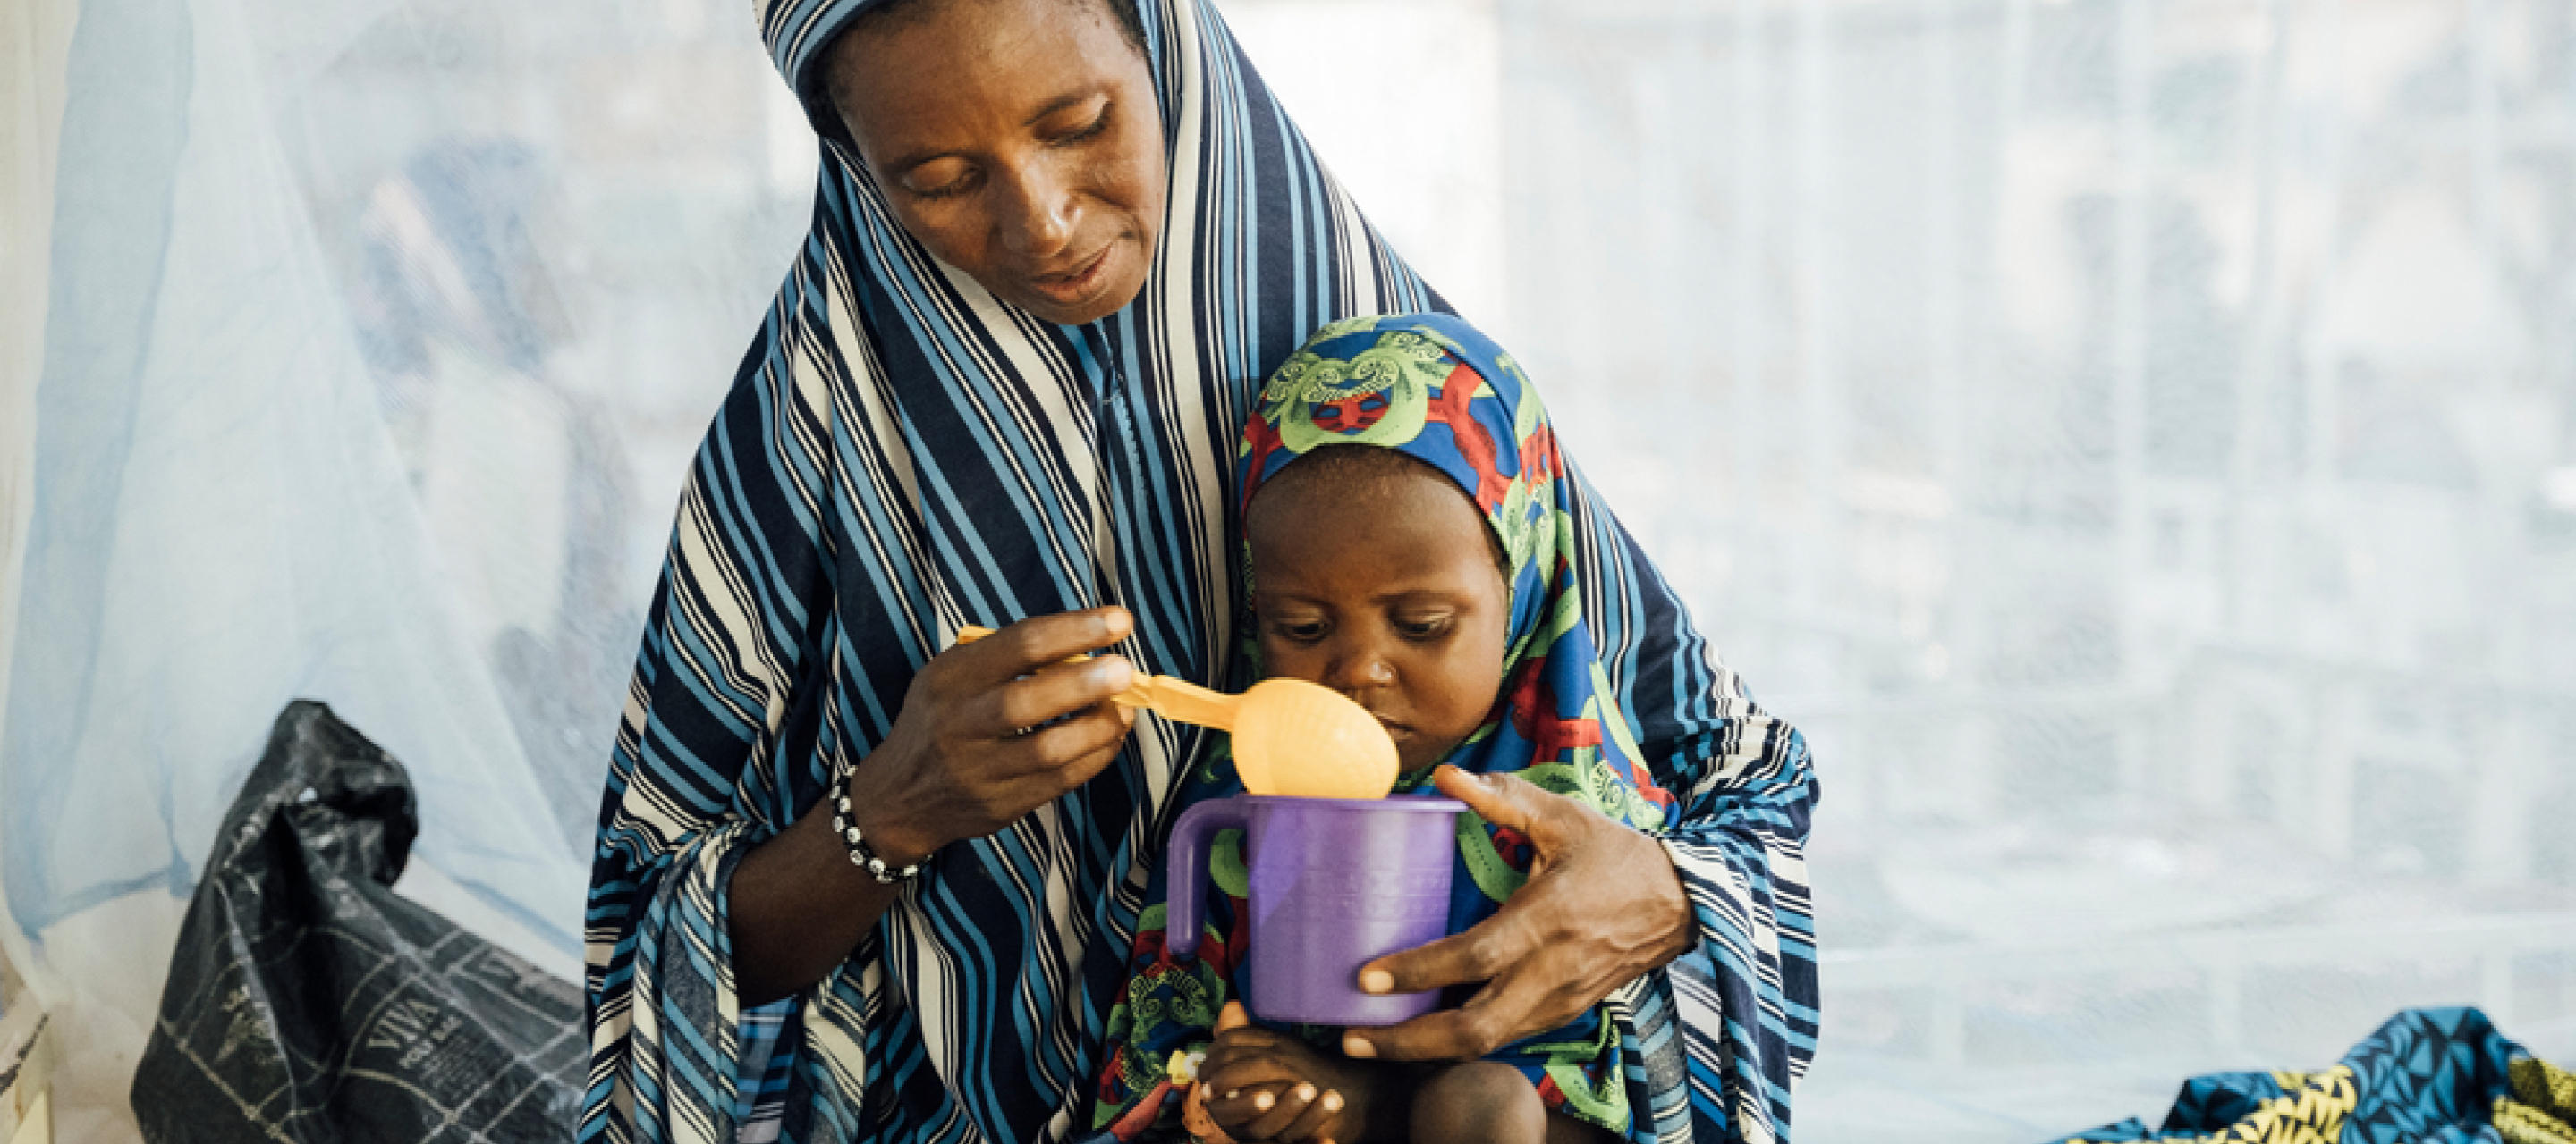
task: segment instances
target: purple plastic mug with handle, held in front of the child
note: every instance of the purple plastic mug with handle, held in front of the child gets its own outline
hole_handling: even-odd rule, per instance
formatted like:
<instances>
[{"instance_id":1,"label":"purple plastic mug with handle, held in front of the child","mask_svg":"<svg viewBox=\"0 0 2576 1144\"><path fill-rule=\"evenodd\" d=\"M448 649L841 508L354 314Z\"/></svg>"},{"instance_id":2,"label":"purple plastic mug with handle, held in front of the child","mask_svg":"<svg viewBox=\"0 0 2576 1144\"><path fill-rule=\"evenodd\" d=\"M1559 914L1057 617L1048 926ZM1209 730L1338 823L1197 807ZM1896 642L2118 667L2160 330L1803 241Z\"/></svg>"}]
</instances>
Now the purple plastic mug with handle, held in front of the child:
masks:
<instances>
[{"instance_id":1,"label":"purple plastic mug with handle, held in front of the child","mask_svg":"<svg viewBox=\"0 0 2576 1144\"><path fill-rule=\"evenodd\" d=\"M1394 1025L1440 1005L1440 992L1360 992L1360 966L1448 935L1458 812L1440 796L1298 799L1236 794L1172 825L1164 940L1198 951L1208 840L1244 832L1252 891L1252 1013L1306 1025Z\"/></svg>"}]
</instances>

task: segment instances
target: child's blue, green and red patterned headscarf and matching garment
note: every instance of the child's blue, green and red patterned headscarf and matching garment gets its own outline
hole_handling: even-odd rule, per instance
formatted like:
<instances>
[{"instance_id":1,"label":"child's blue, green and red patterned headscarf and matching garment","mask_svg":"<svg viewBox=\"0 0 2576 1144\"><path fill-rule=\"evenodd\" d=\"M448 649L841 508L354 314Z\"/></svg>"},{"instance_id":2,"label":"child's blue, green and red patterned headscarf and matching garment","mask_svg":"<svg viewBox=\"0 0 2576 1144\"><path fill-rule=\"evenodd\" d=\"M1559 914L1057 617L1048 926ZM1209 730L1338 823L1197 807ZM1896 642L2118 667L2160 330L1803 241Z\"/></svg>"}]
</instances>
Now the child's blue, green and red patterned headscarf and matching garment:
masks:
<instances>
[{"instance_id":1,"label":"child's blue, green and red patterned headscarf and matching garment","mask_svg":"<svg viewBox=\"0 0 2576 1144\"><path fill-rule=\"evenodd\" d=\"M1443 763L1471 773L1517 773L1540 788L1574 796L1633 830L1662 832L1677 822L1669 791L1643 765L1643 752L1602 670L1584 618L1592 577L1582 536L1582 482L1556 443L1538 392L1510 353L1448 314L1352 317L1319 330L1270 376L1244 425L1234 464L1249 510L1280 469L1324 446L1391 448L1448 477L1473 500L1504 554L1510 618L1504 624L1502 693L1494 709ZM1244 541L1244 567L1257 590ZM1239 626L1257 662L1252 616ZM1430 794L1430 770L1399 776L1396 794ZM1193 776L1185 804L1242 794L1234 768L1216 760ZM1216 1007L1239 997L1249 953L1242 832L1213 840L1206 951L1175 958L1164 948L1162 894L1136 935L1128 995L1110 1010L1110 1062L1095 1118L1113 1123L1164 1080L1175 1051L1203 1049ZM1450 871L1450 933L1494 917L1530 876L1530 840L1466 812L1458 817L1458 861ZM1167 881L1157 876L1157 889ZM1327 1031L1306 1031L1334 1051ZM1628 1092L1620 1036L1607 1007L1525 1038L1492 1059L1530 1077L1548 1111L1607 1131L1654 1139L1631 1108L1651 1092Z\"/></svg>"}]
</instances>

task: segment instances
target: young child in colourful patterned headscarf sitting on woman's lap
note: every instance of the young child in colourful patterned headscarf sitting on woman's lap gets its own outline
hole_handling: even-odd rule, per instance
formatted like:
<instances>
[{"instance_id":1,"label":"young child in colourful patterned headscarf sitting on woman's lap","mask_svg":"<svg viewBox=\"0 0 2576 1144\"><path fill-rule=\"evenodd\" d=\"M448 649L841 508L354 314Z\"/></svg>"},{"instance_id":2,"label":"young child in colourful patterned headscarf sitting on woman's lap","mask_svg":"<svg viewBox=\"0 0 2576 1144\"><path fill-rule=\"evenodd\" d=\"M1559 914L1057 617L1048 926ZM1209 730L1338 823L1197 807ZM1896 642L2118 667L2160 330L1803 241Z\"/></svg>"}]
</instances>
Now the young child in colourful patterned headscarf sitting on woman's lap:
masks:
<instances>
[{"instance_id":1,"label":"young child in colourful patterned headscarf sitting on woman's lap","mask_svg":"<svg viewBox=\"0 0 2576 1144\"><path fill-rule=\"evenodd\" d=\"M1638 830L1672 814L1643 765L1584 621L1571 484L1528 379L1455 317L1363 317L1319 330L1262 392L1236 459L1252 662L1329 685L1386 724L1399 794L1435 765L1520 773ZM1185 801L1242 791L1231 760ZM1530 843L1461 814L1450 933L1507 899ZM1631 1134L1613 1002L1481 1062L1347 1059L1340 1031L1242 1025L1242 837L1211 853L1200 948L1164 951L1164 884L1139 922L1110 1013L1097 1123L1121 1139L1610 1141ZM1151 1105L1177 1054L1203 1108ZM1195 1100L1193 1100L1195 1103Z\"/></svg>"}]
</instances>

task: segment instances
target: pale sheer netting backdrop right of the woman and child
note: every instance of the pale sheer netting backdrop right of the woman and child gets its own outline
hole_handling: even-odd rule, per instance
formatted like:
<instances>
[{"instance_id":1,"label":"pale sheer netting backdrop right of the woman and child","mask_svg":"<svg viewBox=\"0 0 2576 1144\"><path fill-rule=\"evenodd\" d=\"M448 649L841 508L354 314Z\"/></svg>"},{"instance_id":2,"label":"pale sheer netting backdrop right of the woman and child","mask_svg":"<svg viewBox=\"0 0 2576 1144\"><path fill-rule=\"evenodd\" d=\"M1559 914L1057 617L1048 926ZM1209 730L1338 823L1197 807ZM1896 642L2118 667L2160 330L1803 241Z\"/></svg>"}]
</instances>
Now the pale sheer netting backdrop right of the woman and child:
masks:
<instances>
[{"instance_id":1,"label":"pale sheer netting backdrop right of the woman and child","mask_svg":"<svg viewBox=\"0 0 2576 1144\"><path fill-rule=\"evenodd\" d=\"M2576 10L1494 21L1507 340L1816 745L1801 1126L2576 1046Z\"/></svg>"}]
</instances>

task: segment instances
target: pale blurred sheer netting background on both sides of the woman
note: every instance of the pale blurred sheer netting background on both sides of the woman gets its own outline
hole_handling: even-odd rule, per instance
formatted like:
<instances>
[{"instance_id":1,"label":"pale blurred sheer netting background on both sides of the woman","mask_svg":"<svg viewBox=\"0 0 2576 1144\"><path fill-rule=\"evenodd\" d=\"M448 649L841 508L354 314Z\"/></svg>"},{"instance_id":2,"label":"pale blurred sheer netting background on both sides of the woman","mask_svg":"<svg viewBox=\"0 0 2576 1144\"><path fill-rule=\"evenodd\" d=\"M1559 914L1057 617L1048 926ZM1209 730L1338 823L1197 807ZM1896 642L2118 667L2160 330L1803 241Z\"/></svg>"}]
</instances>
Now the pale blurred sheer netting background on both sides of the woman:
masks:
<instances>
[{"instance_id":1,"label":"pale blurred sheer netting background on both sides of the woman","mask_svg":"<svg viewBox=\"0 0 2576 1144\"><path fill-rule=\"evenodd\" d=\"M2148 1116L2401 1005L2576 1056L2576 10L1224 8L1808 729L1801 1139ZM0 15L0 884L64 1139L124 1139L286 698L412 765L407 891L572 974L814 139L739 3L72 13Z\"/></svg>"}]
</instances>

